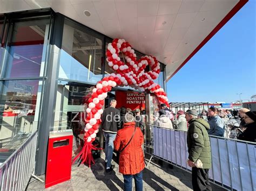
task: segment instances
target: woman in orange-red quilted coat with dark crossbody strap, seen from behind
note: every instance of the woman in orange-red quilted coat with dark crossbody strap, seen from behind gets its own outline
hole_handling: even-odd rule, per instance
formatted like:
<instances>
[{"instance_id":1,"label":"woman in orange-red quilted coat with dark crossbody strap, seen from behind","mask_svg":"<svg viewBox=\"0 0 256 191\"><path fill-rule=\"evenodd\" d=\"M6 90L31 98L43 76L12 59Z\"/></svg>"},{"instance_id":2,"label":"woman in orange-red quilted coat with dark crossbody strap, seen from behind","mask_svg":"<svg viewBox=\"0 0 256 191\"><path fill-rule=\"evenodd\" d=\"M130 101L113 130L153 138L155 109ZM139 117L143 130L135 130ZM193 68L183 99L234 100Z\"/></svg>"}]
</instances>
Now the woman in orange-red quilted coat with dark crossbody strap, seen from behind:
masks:
<instances>
[{"instance_id":1,"label":"woman in orange-red quilted coat with dark crossbody strap, seen from behind","mask_svg":"<svg viewBox=\"0 0 256 191\"><path fill-rule=\"evenodd\" d=\"M120 152L119 172L124 176L124 190L132 190L132 178L135 180L136 190L143 190L143 142L142 131L135 127L133 115L127 113L123 129L117 131L114 140L114 149Z\"/></svg>"}]
</instances>

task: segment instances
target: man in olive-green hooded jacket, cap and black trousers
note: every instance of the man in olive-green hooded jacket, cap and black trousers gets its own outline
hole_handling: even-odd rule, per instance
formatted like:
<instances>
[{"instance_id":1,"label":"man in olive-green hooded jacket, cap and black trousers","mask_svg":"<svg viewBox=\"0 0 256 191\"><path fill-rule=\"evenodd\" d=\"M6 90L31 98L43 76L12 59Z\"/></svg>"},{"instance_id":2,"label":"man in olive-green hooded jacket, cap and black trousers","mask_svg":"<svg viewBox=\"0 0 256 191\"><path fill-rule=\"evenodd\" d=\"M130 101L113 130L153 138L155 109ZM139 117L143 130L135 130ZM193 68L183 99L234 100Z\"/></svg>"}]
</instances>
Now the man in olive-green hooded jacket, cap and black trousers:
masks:
<instances>
[{"instance_id":1,"label":"man in olive-green hooded jacket, cap and black trousers","mask_svg":"<svg viewBox=\"0 0 256 191\"><path fill-rule=\"evenodd\" d=\"M212 166L210 139L207 133L210 125L197 116L194 109L186 111L185 117L190 124L187 131L187 162L188 166L192 167L193 190L212 190L208 179L208 172Z\"/></svg>"}]
</instances>

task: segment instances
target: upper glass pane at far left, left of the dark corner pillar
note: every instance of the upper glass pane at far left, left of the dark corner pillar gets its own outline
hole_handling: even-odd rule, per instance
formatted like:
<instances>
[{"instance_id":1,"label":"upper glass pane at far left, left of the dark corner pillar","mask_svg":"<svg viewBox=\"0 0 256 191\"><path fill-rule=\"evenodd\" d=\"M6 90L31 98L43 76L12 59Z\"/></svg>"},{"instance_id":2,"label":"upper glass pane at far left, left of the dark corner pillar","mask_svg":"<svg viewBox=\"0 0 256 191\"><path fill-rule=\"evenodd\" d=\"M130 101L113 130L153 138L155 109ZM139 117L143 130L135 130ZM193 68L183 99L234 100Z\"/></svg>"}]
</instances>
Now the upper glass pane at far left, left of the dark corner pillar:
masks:
<instances>
[{"instance_id":1,"label":"upper glass pane at far left, left of the dark corner pillar","mask_svg":"<svg viewBox=\"0 0 256 191\"><path fill-rule=\"evenodd\" d=\"M49 19L12 23L5 77L43 76Z\"/></svg>"}]
</instances>

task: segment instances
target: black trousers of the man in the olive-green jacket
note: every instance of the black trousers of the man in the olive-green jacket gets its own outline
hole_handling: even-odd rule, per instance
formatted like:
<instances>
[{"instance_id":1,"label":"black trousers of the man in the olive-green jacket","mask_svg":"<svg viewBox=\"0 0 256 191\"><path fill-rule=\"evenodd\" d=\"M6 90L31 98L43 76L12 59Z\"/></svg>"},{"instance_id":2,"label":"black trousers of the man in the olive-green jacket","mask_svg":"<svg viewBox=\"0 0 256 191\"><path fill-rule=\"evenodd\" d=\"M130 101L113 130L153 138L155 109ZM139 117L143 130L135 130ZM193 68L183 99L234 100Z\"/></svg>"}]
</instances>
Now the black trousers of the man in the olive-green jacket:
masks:
<instances>
[{"instance_id":1,"label":"black trousers of the man in the olive-green jacket","mask_svg":"<svg viewBox=\"0 0 256 191\"><path fill-rule=\"evenodd\" d=\"M192 186L193 190L212 190L209 178L209 169L202 169L197 167L192 167Z\"/></svg>"}]
</instances>

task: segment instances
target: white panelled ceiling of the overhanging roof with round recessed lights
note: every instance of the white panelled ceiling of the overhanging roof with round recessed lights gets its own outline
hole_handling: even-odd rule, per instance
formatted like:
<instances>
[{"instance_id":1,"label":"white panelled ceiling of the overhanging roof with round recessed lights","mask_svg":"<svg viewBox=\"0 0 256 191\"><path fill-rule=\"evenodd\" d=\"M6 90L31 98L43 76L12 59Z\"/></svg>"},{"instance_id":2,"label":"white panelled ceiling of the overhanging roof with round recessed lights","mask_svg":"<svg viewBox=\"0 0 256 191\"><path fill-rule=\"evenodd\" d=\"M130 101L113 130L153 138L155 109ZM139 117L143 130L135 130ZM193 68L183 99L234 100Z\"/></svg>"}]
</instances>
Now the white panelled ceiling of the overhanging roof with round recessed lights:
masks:
<instances>
[{"instance_id":1,"label":"white panelled ceiling of the overhanging roof with round recessed lights","mask_svg":"<svg viewBox=\"0 0 256 191\"><path fill-rule=\"evenodd\" d=\"M51 7L134 49L171 76L239 0L0 0L0 12ZM84 15L89 10L91 16ZM202 21L202 19L204 21ZM165 23L165 24L163 24Z\"/></svg>"}]
</instances>

